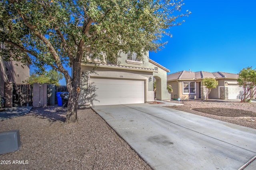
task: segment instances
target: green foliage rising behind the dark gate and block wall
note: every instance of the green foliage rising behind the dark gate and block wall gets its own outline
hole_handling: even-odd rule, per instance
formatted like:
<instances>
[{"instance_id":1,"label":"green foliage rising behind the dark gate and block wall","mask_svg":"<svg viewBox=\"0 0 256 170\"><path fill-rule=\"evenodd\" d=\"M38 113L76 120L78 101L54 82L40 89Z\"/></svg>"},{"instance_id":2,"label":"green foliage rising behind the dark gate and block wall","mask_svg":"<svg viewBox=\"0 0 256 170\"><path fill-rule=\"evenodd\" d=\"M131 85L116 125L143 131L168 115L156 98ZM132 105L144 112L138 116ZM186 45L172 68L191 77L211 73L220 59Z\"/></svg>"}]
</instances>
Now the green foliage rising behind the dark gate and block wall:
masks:
<instances>
[{"instance_id":1,"label":"green foliage rising behind the dark gate and block wall","mask_svg":"<svg viewBox=\"0 0 256 170\"><path fill-rule=\"evenodd\" d=\"M58 73L55 70L49 70L49 72L46 72L46 74L32 74L28 80L26 80L27 83L48 83L48 84L59 84L59 80L63 78L63 75L61 73Z\"/></svg>"}]
</instances>

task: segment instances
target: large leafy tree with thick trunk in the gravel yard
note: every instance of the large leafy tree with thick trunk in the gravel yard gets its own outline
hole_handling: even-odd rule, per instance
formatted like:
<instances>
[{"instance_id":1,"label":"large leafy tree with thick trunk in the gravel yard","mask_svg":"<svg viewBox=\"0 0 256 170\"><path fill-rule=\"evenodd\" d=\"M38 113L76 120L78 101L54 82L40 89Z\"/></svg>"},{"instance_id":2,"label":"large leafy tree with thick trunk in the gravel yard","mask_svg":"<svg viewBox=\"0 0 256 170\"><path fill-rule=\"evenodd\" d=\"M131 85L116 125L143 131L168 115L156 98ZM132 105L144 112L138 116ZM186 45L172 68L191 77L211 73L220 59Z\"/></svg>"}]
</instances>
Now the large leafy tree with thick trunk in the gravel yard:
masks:
<instances>
[{"instance_id":1,"label":"large leafy tree with thick trunk in the gravel yard","mask_svg":"<svg viewBox=\"0 0 256 170\"><path fill-rule=\"evenodd\" d=\"M70 98L66 122L76 122L81 63L88 59L114 60L120 52L147 51L164 46L168 28L181 1L173 0L0 0L0 42L6 60L46 65L62 72ZM64 66L72 66L70 76Z\"/></svg>"}]
</instances>

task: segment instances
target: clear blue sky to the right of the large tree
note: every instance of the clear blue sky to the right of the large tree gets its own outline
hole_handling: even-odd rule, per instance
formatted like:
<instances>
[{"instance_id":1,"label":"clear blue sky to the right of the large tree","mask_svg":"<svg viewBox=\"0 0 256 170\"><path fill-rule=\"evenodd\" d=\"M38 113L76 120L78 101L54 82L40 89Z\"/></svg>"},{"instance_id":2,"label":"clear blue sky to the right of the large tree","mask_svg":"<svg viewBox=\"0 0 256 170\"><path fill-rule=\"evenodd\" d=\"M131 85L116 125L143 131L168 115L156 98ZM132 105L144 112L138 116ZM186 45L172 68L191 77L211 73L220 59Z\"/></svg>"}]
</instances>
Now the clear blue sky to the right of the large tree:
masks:
<instances>
[{"instance_id":1,"label":"clear blue sky to the right of the large tree","mask_svg":"<svg viewBox=\"0 0 256 170\"><path fill-rule=\"evenodd\" d=\"M192 12L180 26L170 29L172 38L152 60L170 73L239 73L256 68L256 0L184 0L182 10Z\"/></svg>"}]
</instances>

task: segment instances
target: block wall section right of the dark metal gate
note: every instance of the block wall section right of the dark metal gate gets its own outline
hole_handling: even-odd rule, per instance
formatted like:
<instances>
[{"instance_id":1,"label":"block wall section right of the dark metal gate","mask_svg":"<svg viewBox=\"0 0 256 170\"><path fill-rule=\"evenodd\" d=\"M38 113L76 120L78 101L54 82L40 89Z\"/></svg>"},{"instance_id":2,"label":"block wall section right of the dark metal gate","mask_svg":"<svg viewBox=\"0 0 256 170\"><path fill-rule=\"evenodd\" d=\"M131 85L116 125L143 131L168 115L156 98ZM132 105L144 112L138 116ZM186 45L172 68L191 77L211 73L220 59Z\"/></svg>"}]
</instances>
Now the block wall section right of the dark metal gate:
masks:
<instances>
[{"instance_id":1,"label":"block wall section right of the dark metal gate","mask_svg":"<svg viewBox=\"0 0 256 170\"><path fill-rule=\"evenodd\" d=\"M33 107L47 106L47 84L33 84Z\"/></svg>"}]
</instances>

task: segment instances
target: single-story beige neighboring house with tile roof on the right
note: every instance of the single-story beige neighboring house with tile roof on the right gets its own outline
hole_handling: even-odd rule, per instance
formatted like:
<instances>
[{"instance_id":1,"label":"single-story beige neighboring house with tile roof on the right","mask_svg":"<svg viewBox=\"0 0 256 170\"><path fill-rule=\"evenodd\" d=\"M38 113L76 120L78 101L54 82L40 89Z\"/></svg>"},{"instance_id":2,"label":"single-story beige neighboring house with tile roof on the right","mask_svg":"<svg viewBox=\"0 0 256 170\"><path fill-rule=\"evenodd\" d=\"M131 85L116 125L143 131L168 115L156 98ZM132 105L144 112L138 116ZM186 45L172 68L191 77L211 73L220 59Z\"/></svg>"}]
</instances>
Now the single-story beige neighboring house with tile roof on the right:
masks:
<instances>
[{"instance_id":1,"label":"single-story beige neighboring house with tile roof on the right","mask_svg":"<svg viewBox=\"0 0 256 170\"><path fill-rule=\"evenodd\" d=\"M213 99L239 99L242 87L237 84L238 74L226 72L191 72L180 71L167 75L167 84L172 86L172 98L206 98L203 78L215 78L217 88L211 90L209 98Z\"/></svg>"}]
</instances>

